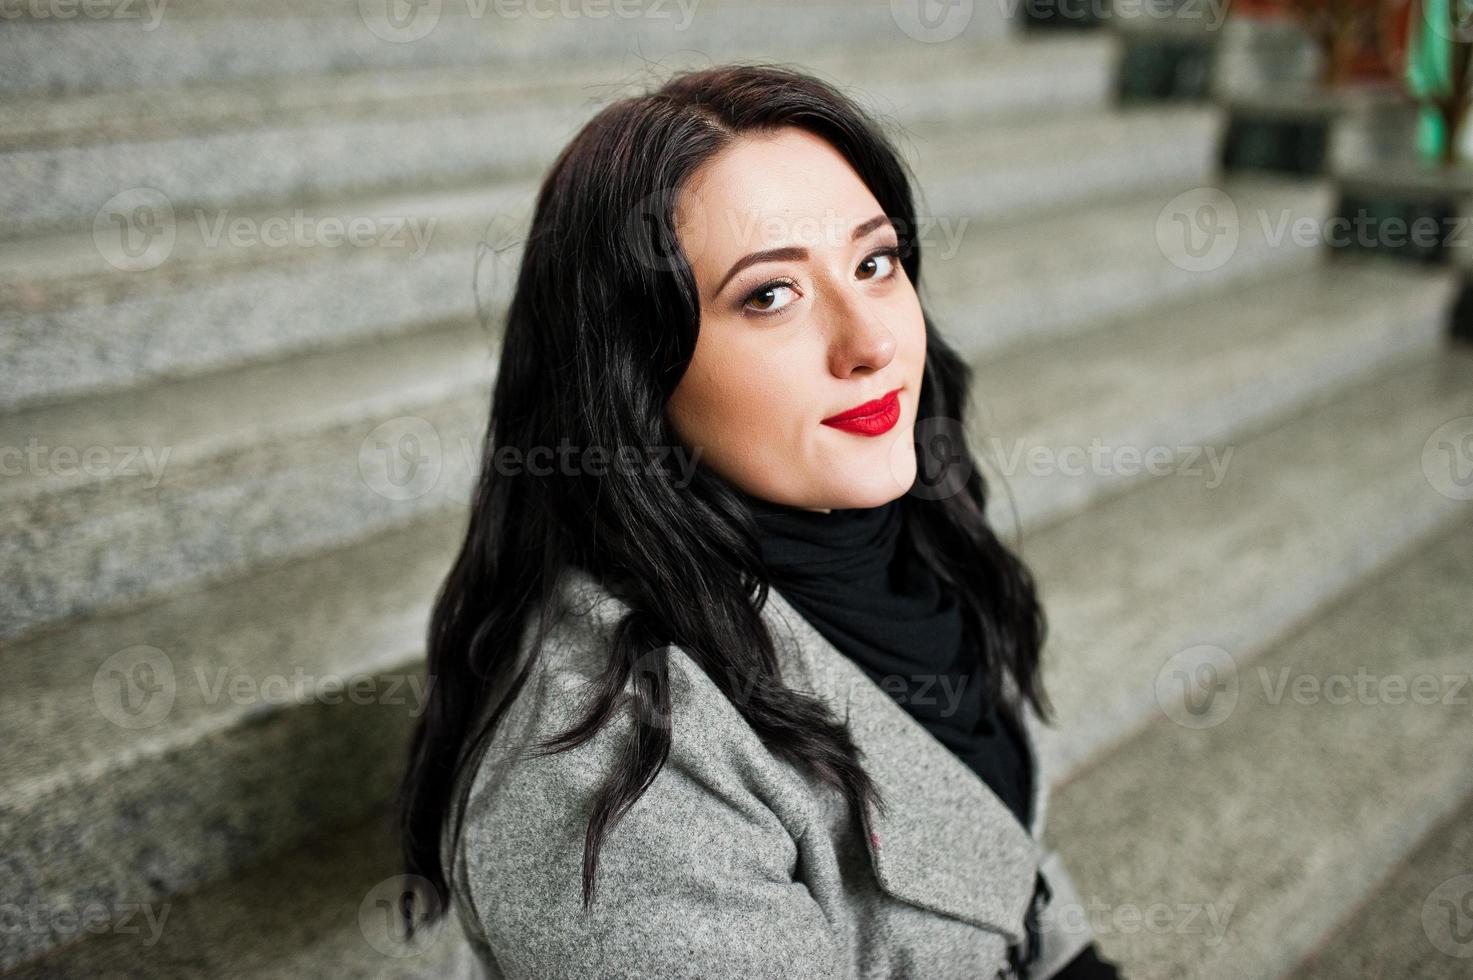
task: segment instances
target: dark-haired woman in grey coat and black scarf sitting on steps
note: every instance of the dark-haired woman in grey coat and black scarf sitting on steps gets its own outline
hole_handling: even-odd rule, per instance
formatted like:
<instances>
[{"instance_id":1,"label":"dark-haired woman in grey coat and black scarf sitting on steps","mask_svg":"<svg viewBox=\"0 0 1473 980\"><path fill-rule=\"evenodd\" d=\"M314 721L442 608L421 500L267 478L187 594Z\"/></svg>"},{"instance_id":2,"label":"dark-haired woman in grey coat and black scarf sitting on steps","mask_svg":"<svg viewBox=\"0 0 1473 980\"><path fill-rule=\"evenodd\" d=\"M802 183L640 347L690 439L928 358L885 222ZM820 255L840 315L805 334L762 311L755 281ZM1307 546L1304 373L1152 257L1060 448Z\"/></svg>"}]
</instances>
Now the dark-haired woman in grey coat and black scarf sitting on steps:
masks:
<instances>
[{"instance_id":1,"label":"dark-haired woman in grey coat and black scarf sitting on steps","mask_svg":"<svg viewBox=\"0 0 1473 980\"><path fill-rule=\"evenodd\" d=\"M401 800L491 976L1115 976L1049 914L1044 617L919 277L900 158L800 72L554 162Z\"/></svg>"}]
</instances>

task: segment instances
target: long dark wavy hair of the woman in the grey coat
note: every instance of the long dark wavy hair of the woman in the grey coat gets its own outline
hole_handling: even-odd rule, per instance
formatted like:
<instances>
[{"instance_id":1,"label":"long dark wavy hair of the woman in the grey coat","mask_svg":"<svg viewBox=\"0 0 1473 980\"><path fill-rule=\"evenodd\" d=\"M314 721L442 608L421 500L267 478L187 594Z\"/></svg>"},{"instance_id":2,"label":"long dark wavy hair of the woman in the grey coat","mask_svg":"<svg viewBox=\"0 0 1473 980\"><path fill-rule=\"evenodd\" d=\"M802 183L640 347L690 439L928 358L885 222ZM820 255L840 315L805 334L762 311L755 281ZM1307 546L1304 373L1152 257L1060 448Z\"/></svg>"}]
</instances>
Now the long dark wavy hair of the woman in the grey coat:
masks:
<instances>
[{"instance_id":1,"label":"long dark wavy hair of the woman in the grey coat","mask_svg":"<svg viewBox=\"0 0 1473 980\"><path fill-rule=\"evenodd\" d=\"M613 634L588 715L541 747L560 752L588 741L625 703L630 682L641 729L595 802L585 905L594 897L604 834L670 749L670 727L660 724L670 715L667 663L654 656L669 644L701 666L770 752L835 787L854 812L866 800L882 805L843 719L781 681L760 616L770 579L739 488L709 467L676 485L670 473L641 467L507 476L493 466L504 447L524 455L563 439L574 447L678 445L666 404L691 361L701 309L676 237L675 203L691 175L725 147L779 127L807 130L848 161L899 231L901 265L921 286L904 161L850 97L794 68L732 63L678 74L605 106L558 155L538 192L507 312L468 528L429 623L435 682L414 731L398 830L407 874L423 877L437 895L405 902L411 934L415 903L426 906L423 921L439 918L449 903L440 844L445 834L458 843L471 784L458 777L474 771L502 707L530 673L569 566L592 573L629 613ZM929 315L925 330L918 424L960 420L971 368ZM907 494L903 541L960 597L966 626L981 640L984 690L1002 693L1006 671L1016 696L1047 719L1040 678L1046 619L1027 567L987 523L987 485L960 430L947 427L949 464L965 482L949 495ZM918 466L927 472L924 451L918 441ZM533 616L532 656L510 678ZM510 693L488 712L492 688ZM455 847L449 853L454 861Z\"/></svg>"}]
</instances>

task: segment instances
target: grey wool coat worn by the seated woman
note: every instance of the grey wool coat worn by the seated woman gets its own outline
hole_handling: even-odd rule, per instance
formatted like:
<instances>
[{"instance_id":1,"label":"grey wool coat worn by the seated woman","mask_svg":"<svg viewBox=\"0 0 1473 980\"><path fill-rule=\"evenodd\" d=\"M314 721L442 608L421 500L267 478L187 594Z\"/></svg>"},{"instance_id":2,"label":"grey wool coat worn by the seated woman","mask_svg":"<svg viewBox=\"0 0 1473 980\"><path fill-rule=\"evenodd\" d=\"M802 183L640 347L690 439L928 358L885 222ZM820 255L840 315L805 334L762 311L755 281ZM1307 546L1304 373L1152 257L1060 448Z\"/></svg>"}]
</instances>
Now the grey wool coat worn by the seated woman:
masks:
<instances>
[{"instance_id":1,"label":"grey wool coat worn by the seated woman","mask_svg":"<svg viewBox=\"0 0 1473 980\"><path fill-rule=\"evenodd\" d=\"M473 772L454 911L491 977L925 977L1006 973L1024 939L1040 867L1049 977L1090 940L1078 897L1041 841L1049 774L1037 716L1033 825L1012 811L776 591L763 617L784 681L828 699L888 803L869 830L835 790L762 744L679 648L669 648L673 747L604 840L594 903L582 908L592 802L614 766L632 706L592 741L518 757L567 728L602 669L626 606L592 578L566 581L569 615ZM529 648L523 638L521 653Z\"/></svg>"}]
</instances>

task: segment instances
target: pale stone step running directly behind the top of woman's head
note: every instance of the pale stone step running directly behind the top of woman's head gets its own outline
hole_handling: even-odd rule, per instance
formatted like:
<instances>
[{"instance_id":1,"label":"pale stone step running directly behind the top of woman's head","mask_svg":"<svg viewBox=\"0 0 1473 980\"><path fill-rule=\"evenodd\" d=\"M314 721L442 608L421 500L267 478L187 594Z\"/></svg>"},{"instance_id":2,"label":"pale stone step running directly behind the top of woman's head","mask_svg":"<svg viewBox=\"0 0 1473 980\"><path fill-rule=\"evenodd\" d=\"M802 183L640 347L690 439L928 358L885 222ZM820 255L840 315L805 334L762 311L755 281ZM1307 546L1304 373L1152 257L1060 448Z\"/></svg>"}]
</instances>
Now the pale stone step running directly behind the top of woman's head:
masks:
<instances>
[{"instance_id":1,"label":"pale stone step running directly behind the top of woman's head","mask_svg":"<svg viewBox=\"0 0 1473 980\"><path fill-rule=\"evenodd\" d=\"M744 57L781 60L784 50L767 50L763 40L748 38ZM859 85L881 115L944 121L1103 109L1118 57L1118 43L1105 34L931 46L896 44L882 37L840 47L809 46L798 65L831 81ZM709 52L678 49L657 62L620 52L569 59L557 71L536 74L482 60L187 87L108 87L72 96L16 93L0 106L0 150L133 143L262 125L402 119L423 115L427 108L464 113L501 105L558 109L572 103L591 111L594 102L638 93L675 71L711 62Z\"/></svg>"}]
</instances>

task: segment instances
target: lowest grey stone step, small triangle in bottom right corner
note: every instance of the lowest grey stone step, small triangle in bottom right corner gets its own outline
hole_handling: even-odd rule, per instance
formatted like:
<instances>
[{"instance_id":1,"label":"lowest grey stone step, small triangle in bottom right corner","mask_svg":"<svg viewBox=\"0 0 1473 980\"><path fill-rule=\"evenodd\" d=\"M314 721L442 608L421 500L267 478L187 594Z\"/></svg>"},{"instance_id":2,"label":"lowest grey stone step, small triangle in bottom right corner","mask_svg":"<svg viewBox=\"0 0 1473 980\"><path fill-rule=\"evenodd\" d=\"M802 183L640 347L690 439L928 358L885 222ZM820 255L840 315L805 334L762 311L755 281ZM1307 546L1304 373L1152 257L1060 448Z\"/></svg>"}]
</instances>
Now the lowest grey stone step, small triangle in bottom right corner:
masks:
<instances>
[{"instance_id":1,"label":"lowest grey stone step, small triangle in bottom right corner","mask_svg":"<svg viewBox=\"0 0 1473 980\"><path fill-rule=\"evenodd\" d=\"M1463 676L1467 676L1466 663ZM1467 707L1466 696L1460 703ZM1292 980L1467 977L1473 958L1470 895L1473 797L1452 811L1451 818L1289 976Z\"/></svg>"}]
</instances>

